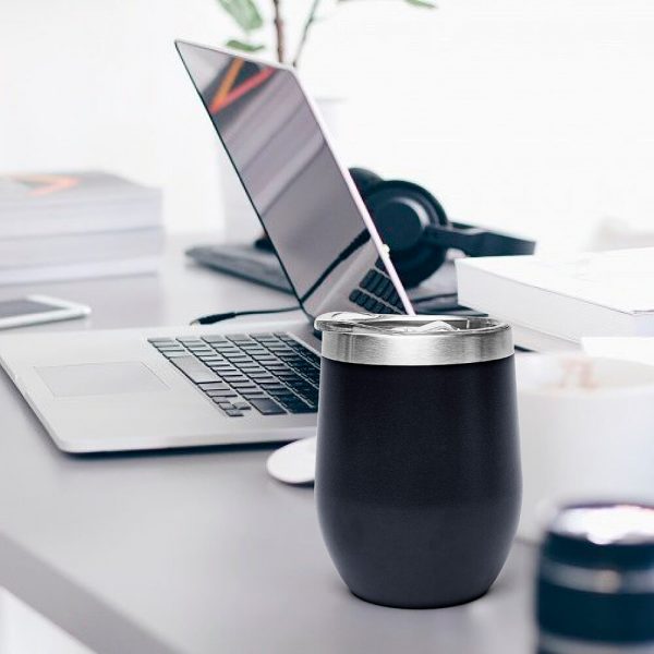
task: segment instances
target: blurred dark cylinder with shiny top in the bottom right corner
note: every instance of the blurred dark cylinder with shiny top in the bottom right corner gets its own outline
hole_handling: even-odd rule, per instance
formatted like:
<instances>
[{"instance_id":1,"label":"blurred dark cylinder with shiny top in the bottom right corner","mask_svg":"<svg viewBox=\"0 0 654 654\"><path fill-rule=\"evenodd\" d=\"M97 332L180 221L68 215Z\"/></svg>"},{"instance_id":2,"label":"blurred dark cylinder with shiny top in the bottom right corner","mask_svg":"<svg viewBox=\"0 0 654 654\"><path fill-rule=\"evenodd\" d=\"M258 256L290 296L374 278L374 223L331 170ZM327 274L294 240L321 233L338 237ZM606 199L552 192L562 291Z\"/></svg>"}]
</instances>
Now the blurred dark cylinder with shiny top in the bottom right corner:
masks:
<instances>
[{"instance_id":1,"label":"blurred dark cylinder with shiny top in the bottom right corner","mask_svg":"<svg viewBox=\"0 0 654 654\"><path fill-rule=\"evenodd\" d=\"M654 654L654 507L562 509L541 548L538 652Z\"/></svg>"}]
</instances>

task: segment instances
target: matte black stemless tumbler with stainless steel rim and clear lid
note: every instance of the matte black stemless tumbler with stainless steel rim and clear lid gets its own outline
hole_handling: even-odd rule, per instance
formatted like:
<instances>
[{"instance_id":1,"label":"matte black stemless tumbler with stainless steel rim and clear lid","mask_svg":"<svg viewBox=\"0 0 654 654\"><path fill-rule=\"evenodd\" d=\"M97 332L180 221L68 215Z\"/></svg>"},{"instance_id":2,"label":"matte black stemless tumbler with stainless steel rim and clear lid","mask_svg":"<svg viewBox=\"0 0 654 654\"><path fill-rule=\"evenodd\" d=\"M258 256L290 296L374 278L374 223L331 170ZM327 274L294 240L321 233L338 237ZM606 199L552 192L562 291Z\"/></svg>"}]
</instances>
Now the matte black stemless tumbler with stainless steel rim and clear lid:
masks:
<instances>
[{"instance_id":1,"label":"matte black stemless tumbler with stainless steel rim and clear lid","mask_svg":"<svg viewBox=\"0 0 654 654\"><path fill-rule=\"evenodd\" d=\"M509 326L339 312L316 328L316 501L341 578L386 606L480 597L520 513Z\"/></svg>"}]
</instances>

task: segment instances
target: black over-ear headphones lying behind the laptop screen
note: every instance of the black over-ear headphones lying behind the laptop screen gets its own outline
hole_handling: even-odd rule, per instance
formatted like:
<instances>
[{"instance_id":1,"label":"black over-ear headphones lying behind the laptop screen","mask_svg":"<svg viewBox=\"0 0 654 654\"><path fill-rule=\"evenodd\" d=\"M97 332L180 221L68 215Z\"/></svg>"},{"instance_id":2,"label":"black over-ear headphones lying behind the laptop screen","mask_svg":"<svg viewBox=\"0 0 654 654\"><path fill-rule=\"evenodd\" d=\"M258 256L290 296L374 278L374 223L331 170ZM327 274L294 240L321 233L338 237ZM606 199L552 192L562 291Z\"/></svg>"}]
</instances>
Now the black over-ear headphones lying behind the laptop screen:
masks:
<instances>
[{"instance_id":1,"label":"black over-ear headphones lying behind the laptop screen","mask_svg":"<svg viewBox=\"0 0 654 654\"><path fill-rule=\"evenodd\" d=\"M431 277L449 247L470 256L534 252L534 241L450 222L440 203L417 184L383 180L365 168L350 168L350 174L407 288Z\"/></svg>"}]
</instances>

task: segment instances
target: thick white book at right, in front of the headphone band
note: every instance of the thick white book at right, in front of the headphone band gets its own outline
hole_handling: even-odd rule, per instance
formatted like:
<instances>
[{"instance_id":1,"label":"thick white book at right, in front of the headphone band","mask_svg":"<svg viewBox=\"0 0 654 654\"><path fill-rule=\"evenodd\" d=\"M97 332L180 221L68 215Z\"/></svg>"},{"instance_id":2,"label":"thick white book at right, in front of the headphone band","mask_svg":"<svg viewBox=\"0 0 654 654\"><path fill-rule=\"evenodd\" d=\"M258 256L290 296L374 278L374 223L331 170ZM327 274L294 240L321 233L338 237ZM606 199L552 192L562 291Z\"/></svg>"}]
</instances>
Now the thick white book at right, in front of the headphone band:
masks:
<instances>
[{"instance_id":1,"label":"thick white book at right, in front of the headphone band","mask_svg":"<svg viewBox=\"0 0 654 654\"><path fill-rule=\"evenodd\" d=\"M460 304L525 332L572 344L586 336L654 336L654 247L456 264Z\"/></svg>"}]
</instances>

